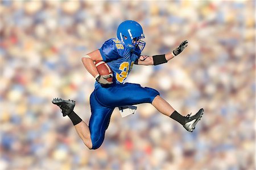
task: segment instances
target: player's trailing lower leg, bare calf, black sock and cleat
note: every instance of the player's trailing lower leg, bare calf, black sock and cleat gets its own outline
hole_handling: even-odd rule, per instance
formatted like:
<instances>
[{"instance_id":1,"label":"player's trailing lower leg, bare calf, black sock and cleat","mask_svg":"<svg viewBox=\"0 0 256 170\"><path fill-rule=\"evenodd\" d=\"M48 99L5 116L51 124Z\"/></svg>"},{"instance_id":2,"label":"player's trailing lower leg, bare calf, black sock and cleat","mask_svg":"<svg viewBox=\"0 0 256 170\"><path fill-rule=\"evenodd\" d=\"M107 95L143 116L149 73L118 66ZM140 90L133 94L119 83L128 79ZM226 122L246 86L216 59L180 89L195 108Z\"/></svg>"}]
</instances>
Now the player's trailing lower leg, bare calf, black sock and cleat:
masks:
<instances>
[{"instance_id":1,"label":"player's trailing lower leg, bare calf, black sock and cleat","mask_svg":"<svg viewBox=\"0 0 256 170\"><path fill-rule=\"evenodd\" d=\"M87 146L89 149L92 148L92 140L90 139L90 131L88 125L82 121L82 119L73 111L75 107L75 101L67 101L61 98L54 98L52 103L60 107L61 112L63 113L63 117L68 115L76 128L77 134L79 134L85 146Z\"/></svg>"}]
</instances>

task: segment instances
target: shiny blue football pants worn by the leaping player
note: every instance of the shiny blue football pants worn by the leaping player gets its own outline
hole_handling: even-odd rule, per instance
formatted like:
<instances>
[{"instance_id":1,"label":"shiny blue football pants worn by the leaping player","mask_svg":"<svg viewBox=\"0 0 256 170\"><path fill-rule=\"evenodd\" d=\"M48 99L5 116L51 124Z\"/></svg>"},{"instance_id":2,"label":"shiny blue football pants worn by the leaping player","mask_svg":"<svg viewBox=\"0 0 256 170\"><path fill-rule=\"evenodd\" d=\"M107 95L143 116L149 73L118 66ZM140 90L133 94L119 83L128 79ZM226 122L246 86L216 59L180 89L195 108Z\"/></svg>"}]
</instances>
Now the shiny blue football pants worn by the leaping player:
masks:
<instances>
[{"instance_id":1,"label":"shiny blue football pants worn by the leaping player","mask_svg":"<svg viewBox=\"0 0 256 170\"><path fill-rule=\"evenodd\" d=\"M109 126L110 117L115 107L152 103L159 93L152 88L142 88L139 84L115 84L108 88L96 86L90 95L90 109L92 115L89 121L92 149L101 146L105 131Z\"/></svg>"}]
</instances>

